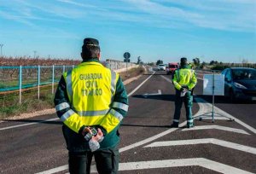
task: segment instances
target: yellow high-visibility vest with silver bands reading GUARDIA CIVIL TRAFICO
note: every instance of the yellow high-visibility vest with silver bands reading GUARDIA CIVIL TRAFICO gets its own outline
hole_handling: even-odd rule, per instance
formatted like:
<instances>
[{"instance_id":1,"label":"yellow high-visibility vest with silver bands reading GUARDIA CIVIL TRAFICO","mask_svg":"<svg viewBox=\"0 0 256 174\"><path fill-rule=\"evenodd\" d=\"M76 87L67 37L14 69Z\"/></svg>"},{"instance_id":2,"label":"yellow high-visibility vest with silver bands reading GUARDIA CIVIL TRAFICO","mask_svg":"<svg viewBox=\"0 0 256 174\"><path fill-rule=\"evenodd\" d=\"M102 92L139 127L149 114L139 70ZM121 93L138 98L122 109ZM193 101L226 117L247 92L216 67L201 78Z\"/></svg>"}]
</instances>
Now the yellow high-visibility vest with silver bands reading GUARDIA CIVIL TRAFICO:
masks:
<instances>
[{"instance_id":1,"label":"yellow high-visibility vest with silver bands reading GUARDIA CIVIL TRAFICO","mask_svg":"<svg viewBox=\"0 0 256 174\"><path fill-rule=\"evenodd\" d=\"M88 61L64 73L63 77L71 106L63 102L56 106L56 110L70 107L61 116L65 125L77 133L83 125L101 125L107 132L113 131L119 125L123 116L112 107L126 111L128 106L113 102L118 73L103 67L99 62Z\"/></svg>"}]
</instances>

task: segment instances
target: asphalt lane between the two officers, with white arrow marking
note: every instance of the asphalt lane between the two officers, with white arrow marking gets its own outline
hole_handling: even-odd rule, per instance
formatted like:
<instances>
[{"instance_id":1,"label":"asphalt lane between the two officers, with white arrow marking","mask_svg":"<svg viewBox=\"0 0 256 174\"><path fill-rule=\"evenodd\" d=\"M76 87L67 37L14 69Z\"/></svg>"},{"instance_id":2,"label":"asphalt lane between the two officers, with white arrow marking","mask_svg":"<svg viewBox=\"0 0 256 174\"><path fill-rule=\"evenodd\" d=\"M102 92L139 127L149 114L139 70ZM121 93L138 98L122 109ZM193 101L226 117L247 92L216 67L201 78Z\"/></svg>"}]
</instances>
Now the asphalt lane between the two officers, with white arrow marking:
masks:
<instances>
[{"instance_id":1,"label":"asphalt lane between the two officers, with white arrow marking","mask_svg":"<svg viewBox=\"0 0 256 174\"><path fill-rule=\"evenodd\" d=\"M135 94L129 97L129 112L119 130L122 140L120 148L166 131L172 124L175 90L173 85L161 75L153 75ZM161 95L143 97L144 94L154 94L158 90L161 90ZM195 104L193 113L196 113L198 109L198 105ZM180 121L182 123L185 120L185 108L183 107Z\"/></svg>"}]
</instances>

